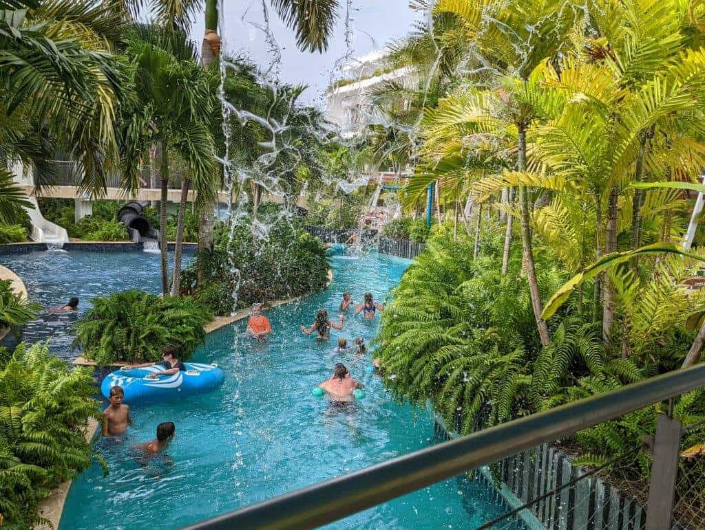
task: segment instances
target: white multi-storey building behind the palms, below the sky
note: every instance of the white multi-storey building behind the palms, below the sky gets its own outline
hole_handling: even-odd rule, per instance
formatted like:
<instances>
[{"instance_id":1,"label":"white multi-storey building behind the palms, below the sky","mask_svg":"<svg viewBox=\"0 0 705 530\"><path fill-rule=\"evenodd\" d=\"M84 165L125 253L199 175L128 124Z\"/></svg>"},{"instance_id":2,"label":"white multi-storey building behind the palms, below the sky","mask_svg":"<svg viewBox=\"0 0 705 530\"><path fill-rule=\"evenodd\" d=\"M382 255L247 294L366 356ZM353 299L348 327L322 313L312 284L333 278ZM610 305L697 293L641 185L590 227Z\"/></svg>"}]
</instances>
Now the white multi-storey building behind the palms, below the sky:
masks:
<instances>
[{"instance_id":1,"label":"white multi-storey building behind the palms, below the sky","mask_svg":"<svg viewBox=\"0 0 705 530\"><path fill-rule=\"evenodd\" d=\"M355 136L366 125L386 123L372 101L381 84L397 81L412 87L417 82L411 67L392 68L386 57L386 51L373 51L353 58L343 66L343 78L326 92L326 118L341 128L343 137Z\"/></svg>"}]
</instances>

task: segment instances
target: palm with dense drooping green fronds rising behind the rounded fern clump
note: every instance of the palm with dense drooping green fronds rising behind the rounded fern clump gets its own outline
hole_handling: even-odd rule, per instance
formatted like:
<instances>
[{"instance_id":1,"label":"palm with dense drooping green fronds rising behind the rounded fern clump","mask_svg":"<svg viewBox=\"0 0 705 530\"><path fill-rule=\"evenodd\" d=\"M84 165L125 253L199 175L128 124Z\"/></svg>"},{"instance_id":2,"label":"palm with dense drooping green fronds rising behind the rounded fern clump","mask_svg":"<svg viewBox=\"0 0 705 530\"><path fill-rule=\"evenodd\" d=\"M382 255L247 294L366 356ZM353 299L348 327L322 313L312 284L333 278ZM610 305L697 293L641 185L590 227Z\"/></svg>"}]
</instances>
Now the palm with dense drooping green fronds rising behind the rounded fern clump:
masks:
<instances>
[{"instance_id":1,"label":"palm with dense drooping green fronds rising behind the rounded fern clump","mask_svg":"<svg viewBox=\"0 0 705 530\"><path fill-rule=\"evenodd\" d=\"M139 162L148 156L148 148L161 146L161 201L159 205L161 283L168 292L166 253L166 203L169 158L178 156L187 166L183 175L177 242L174 253L172 293L178 294L180 279L180 240L183 238L183 211L190 181L195 182L198 201L212 200L215 193L213 167L214 141L209 123L202 119L209 113L212 82L193 60L193 47L178 30L137 28L130 36L127 50L131 58L130 81L134 97L124 106L123 165L128 188L137 187Z\"/></svg>"}]
</instances>

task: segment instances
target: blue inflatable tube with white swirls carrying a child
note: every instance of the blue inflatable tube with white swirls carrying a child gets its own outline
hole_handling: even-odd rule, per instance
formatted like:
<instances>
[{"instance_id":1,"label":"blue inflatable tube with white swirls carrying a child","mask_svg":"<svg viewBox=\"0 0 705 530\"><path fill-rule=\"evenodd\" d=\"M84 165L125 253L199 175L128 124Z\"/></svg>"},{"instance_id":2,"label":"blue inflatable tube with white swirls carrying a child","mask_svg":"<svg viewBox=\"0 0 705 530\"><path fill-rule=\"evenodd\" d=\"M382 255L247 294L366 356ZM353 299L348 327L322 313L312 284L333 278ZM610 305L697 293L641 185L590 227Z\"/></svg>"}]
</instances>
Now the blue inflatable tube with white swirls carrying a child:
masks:
<instances>
[{"instance_id":1,"label":"blue inflatable tube with white swirls carrying a child","mask_svg":"<svg viewBox=\"0 0 705 530\"><path fill-rule=\"evenodd\" d=\"M212 392L223 384L225 375L218 365L202 365L185 362L186 371L173 375L160 375L156 379L149 374L161 372L164 368L148 366L133 370L116 370L108 374L100 385L103 396L110 396L110 389L121 386L125 391L123 403L158 403L176 400L197 394Z\"/></svg>"}]
</instances>

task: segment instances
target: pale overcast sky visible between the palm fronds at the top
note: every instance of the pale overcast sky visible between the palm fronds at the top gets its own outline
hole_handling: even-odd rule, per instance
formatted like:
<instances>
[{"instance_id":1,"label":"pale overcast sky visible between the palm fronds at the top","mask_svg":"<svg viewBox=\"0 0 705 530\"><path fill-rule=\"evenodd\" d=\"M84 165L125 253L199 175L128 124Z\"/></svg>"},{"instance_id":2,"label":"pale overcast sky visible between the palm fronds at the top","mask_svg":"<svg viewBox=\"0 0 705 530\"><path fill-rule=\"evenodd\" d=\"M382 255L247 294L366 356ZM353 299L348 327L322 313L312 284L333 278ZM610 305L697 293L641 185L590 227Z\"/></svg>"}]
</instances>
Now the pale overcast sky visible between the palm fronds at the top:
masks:
<instances>
[{"instance_id":1,"label":"pale overcast sky visible between the palm fronds at the top","mask_svg":"<svg viewBox=\"0 0 705 530\"><path fill-rule=\"evenodd\" d=\"M266 67L271 60L265 34L256 25L264 24L261 0L224 0L226 30L221 35L226 53L237 55L244 51ZM267 1L269 8L269 1ZM341 0L343 8L345 0ZM331 70L338 58L345 55L345 12L341 16L329 41L326 53L305 53L296 47L294 34L270 10L270 27L281 49L280 78L291 84L307 84L304 101L324 105L324 91L328 86ZM403 37L412 30L419 13L412 11L408 0L353 0L353 27L355 56L381 49L391 39ZM196 42L202 41L202 18L192 30Z\"/></svg>"}]
</instances>

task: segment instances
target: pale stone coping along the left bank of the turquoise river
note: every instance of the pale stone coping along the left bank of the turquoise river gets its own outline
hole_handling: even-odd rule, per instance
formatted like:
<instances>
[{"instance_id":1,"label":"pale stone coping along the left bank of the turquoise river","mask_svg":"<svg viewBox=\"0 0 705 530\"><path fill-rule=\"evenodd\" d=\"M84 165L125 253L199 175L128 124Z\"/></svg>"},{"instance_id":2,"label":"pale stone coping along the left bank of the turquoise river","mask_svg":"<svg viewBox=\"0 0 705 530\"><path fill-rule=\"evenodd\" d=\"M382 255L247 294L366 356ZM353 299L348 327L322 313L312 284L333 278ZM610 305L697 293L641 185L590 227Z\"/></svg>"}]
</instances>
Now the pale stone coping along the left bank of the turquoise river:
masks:
<instances>
[{"instance_id":1,"label":"pale stone coping along the left bank of the turquoise river","mask_svg":"<svg viewBox=\"0 0 705 530\"><path fill-rule=\"evenodd\" d=\"M321 289L322 291L325 291L328 289L331 284L333 283L333 270L329 268L328 270L328 282L326 283L326 286ZM20 280L21 281L21 280ZM314 293L312 293L314 294ZM306 296L311 296L311 294L306 294L302 296L295 296L293 298L286 298L285 300L275 300L274 302L269 305L269 308L276 308L279 307L280 305L284 305L287 303L292 303L299 301L301 298L305 298ZM222 329L223 327L229 326L230 324L233 324L235 322L238 322L239 320L243 320L247 315L249 314L249 309L241 309L235 315L231 317L215 317L211 322L206 324L204 326L204 329L206 330L206 334L216 332L219 329ZM92 361L86 361L83 360L82 363L77 363L76 361L82 359L81 357L77 357L72 361L72 364L74 366L97 366L95 362ZM121 366L121 365L111 365L111 366ZM89 419L88 420L88 428L85 431L85 437L86 441L90 443L93 438L96 435L96 432L98 430L99 423L95 419ZM78 477L78 474L76 475ZM74 477L75 478L75 477ZM61 523L61 516L63 515L63 507L66 505L66 498L68 498L68 491L71 489L71 484L73 483L73 479L67 480L59 484L56 488L54 488L51 493L49 494L49 497L45 498L42 500L42 502L39 503L37 506L37 513L42 516L46 517L49 519L49 524L39 524L35 525L33 528L34 530L51 530L52 528L54 530L59 530L59 523ZM48 517L47 517L48 516Z\"/></svg>"}]
</instances>

